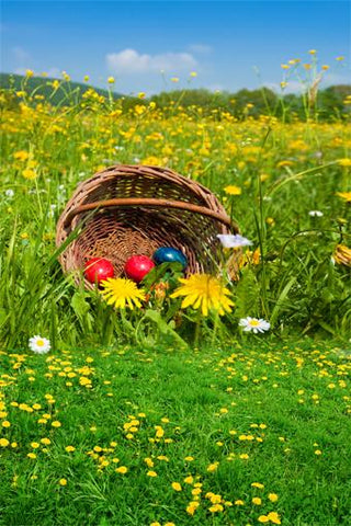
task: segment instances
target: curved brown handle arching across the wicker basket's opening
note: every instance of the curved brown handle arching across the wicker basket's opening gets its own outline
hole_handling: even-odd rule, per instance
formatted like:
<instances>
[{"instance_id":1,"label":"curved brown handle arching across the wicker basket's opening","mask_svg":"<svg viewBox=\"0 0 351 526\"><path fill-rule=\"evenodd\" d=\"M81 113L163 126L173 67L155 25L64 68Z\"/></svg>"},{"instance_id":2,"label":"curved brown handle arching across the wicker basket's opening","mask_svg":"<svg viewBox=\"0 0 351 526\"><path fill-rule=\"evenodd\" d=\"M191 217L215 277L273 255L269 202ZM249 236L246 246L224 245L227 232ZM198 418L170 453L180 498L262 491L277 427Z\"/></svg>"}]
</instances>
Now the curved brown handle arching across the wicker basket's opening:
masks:
<instances>
[{"instance_id":1,"label":"curved brown handle arching across the wicker basket's opening","mask_svg":"<svg viewBox=\"0 0 351 526\"><path fill-rule=\"evenodd\" d=\"M202 214L204 216L212 217L217 221L222 222L226 227L231 228L236 232L239 231L237 225L230 221L229 217L219 211L211 210L204 206L192 205L183 201L168 201L168 199L158 199L158 198L145 198L145 197L127 197L127 198L116 198L116 199L106 199L98 201L97 203L87 203L86 205L80 205L77 208L73 208L66 217L64 227L67 228L70 221L78 214L82 214L87 210L93 210L94 208L109 208L112 206L159 206L166 208L178 208L181 210L193 211L194 214Z\"/></svg>"}]
</instances>

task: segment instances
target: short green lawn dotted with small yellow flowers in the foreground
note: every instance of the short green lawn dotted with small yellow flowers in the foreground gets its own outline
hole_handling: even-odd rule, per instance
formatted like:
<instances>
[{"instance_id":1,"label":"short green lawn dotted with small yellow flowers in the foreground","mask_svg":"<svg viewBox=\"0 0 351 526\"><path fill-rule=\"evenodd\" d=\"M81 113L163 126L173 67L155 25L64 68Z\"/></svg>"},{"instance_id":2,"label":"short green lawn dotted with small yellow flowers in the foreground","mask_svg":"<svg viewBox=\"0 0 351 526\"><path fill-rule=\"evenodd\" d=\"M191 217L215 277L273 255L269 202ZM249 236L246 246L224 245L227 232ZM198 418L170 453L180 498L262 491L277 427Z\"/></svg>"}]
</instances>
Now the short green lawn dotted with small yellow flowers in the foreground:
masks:
<instances>
[{"instance_id":1,"label":"short green lawn dotted with small yellow flowers in the foreground","mask_svg":"<svg viewBox=\"0 0 351 526\"><path fill-rule=\"evenodd\" d=\"M11 423L1 435L10 445L0 448L3 526L256 526L269 512L278 512L284 526L351 522L350 354L344 346L252 339L197 351L9 352L0 361L8 413L2 420ZM82 385L87 378L91 388ZM29 412L13 402L41 408ZM50 418L38 423L45 413ZM133 420L138 423L128 439L124 424ZM61 426L53 427L53 421ZM156 426L163 436L157 438ZM50 444L41 444L43 437ZM33 449L33 442L39 447ZM67 453L68 445L76 450ZM95 446L105 450L92 458L88 453ZM37 457L27 458L33 450ZM160 455L168 459L157 459ZM102 456L110 464L99 469ZM148 468L145 458L155 466ZM217 469L207 471L214 462ZM118 466L127 472L115 472ZM148 477L149 469L158 476ZM190 474L202 484L193 516L186 506L194 487L183 481ZM264 488L251 487L254 482ZM210 512L207 492L233 506ZM278 501L271 502L269 493ZM252 503L256 496L261 505ZM235 504L238 500L245 504Z\"/></svg>"}]
</instances>

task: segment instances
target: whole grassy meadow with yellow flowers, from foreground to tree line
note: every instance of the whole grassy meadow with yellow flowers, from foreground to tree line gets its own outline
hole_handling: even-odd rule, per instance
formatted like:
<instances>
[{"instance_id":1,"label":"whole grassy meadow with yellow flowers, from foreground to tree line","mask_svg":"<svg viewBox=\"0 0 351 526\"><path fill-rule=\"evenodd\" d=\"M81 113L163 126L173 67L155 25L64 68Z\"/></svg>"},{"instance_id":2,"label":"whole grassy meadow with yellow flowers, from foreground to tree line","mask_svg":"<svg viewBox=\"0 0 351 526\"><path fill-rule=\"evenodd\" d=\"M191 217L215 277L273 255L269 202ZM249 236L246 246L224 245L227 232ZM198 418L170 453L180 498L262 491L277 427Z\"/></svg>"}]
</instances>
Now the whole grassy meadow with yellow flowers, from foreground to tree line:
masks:
<instances>
[{"instance_id":1,"label":"whole grassy meadow with yellow flowers, from foreground to tree line","mask_svg":"<svg viewBox=\"0 0 351 526\"><path fill-rule=\"evenodd\" d=\"M1 92L0 524L350 524L350 112L126 108L67 73L53 105L31 76ZM223 316L176 278L131 310L64 275L59 215L118 163L199 181L252 242L231 279L223 250Z\"/></svg>"}]
</instances>

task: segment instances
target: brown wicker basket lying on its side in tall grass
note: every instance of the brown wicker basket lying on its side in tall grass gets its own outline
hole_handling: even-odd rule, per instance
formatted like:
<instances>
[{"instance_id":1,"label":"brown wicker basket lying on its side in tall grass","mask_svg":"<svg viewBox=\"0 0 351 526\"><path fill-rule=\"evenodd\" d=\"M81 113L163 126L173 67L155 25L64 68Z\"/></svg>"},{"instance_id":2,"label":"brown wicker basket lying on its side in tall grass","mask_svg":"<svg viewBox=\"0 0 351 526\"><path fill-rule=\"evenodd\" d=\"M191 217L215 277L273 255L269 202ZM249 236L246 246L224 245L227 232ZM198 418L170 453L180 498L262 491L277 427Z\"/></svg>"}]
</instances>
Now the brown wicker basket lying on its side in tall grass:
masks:
<instances>
[{"instance_id":1,"label":"brown wicker basket lying on its side in tall grass","mask_svg":"<svg viewBox=\"0 0 351 526\"><path fill-rule=\"evenodd\" d=\"M64 272L81 279L91 258L109 259L115 275L135 254L149 258L159 247L174 247L188 258L186 273L214 272L217 233L238 232L210 190L159 167L115 165L80 183L61 214L60 247L80 227L60 256ZM86 286L93 285L86 281Z\"/></svg>"}]
</instances>

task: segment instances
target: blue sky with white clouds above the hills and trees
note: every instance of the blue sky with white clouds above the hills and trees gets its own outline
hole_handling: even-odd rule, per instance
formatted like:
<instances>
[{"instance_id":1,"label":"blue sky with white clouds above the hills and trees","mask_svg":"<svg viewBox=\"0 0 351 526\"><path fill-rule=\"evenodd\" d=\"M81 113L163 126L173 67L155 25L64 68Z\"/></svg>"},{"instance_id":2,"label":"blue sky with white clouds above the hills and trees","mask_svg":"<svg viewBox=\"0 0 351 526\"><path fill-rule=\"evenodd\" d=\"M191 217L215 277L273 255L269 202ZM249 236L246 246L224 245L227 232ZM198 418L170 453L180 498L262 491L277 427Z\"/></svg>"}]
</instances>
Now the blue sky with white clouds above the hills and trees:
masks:
<instances>
[{"instance_id":1,"label":"blue sky with white clouds above the hills and trees","mask_svg":"<svg viewBox=\"0 0 351 526\"><path fill-rule=\"evenodd\" d=\"M349 1L2 1L2 71L113 76L123 93L181 88L191 71L193 88L279 87L281 64L309 49L326 84L350 82L350 48Z\"/></svg>"}]
</instances>

